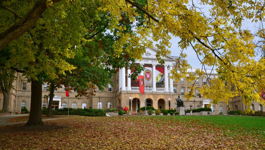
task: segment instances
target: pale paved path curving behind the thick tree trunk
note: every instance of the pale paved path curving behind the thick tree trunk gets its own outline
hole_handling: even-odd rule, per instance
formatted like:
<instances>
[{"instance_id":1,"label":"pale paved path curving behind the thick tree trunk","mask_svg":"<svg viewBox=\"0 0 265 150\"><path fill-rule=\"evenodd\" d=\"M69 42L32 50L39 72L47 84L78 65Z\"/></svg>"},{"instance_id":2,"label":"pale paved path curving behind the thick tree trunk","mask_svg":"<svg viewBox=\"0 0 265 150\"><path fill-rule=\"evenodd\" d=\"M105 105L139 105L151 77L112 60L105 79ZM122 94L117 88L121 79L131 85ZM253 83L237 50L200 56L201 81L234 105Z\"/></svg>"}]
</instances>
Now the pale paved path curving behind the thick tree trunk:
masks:
<instances>
[{"instance_id":1,"label":"pale paved path curving behind the thick tree trunk","mask_svg":"<svg viewBox=\"0 0 265 150\"><path fill-rule=\"evenodd\" d=\"M0 116L0 126L6 126L6 125L13 125L13 124L20 124L20 123L27 123L28 121L23 121L23 122L12 122L9 123L8 120L11 118L16 118L19 116L27 116L29 114L21 114L21 115L3 115ZM67 117L66 117L67 118ZM64 119L64 118L51 118L51 119L42 119L42 121L46 120L55 120L55 119Z\"/></svg>"}]
</instances>

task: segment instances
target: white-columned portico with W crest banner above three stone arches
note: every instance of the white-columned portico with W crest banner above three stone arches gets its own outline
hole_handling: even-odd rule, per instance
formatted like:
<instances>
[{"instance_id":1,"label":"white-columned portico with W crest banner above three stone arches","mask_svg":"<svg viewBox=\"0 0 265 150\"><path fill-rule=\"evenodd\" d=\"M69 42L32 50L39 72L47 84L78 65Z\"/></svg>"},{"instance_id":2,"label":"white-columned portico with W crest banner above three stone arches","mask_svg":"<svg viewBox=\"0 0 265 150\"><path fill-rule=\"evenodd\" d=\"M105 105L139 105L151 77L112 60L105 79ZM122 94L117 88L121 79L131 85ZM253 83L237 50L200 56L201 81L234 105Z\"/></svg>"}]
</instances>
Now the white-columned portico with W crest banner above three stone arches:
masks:
<instances>
[{"instance_id":1,"label":"white-columned portico with W crest banner above three stone arches","mask_svg":"<svg viewBox=\"0 0 265 150\"><path fill-rule=\"evenodd\" d=\"M145 106L155 109L169 109L168 99L176 99L173 91L173 79L170 79L171 70L176 65L176 57L166 55L163 57L165 64L158 63L156 49L146 49L142 60L136 60L136 65L142 65L145 69L139 75L145 78L145 94L139 92L139 81L132 81L130 68L120 68L118 73L119 90L116 101L121 100L120 106L129 106L129 97L132 101L132 110ZM172 103L171 103L172 104ZM172 104L174 105L174 104Z\"/></svg>"}]
</instances>

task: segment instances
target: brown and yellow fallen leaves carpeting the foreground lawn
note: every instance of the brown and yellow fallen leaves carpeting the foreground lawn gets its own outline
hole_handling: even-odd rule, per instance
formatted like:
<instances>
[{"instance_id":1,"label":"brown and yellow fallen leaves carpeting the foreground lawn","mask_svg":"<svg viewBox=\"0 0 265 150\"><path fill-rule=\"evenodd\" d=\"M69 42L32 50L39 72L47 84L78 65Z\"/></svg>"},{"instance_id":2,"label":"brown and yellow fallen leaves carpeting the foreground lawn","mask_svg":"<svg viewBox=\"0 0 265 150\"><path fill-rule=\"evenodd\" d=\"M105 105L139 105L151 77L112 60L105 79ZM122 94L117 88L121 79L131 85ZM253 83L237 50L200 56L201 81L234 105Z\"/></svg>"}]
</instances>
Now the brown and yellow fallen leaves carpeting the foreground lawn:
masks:
<instances>
[{"instance_id":1,"label":"brown and yellow fallen leaves carpeting the foreground lawn","mask_svg":"<svg viewBox=\"0 0 265 150\"><path fill-rule=\"evenodd\" d=\"M264 149L264 134L177 116L85 117L44 121L67 128L0 134L2 149ZM0 130L5 129L1 127ZM226 130L224 132L223 130Z\"/></svg>"}]
</instances>

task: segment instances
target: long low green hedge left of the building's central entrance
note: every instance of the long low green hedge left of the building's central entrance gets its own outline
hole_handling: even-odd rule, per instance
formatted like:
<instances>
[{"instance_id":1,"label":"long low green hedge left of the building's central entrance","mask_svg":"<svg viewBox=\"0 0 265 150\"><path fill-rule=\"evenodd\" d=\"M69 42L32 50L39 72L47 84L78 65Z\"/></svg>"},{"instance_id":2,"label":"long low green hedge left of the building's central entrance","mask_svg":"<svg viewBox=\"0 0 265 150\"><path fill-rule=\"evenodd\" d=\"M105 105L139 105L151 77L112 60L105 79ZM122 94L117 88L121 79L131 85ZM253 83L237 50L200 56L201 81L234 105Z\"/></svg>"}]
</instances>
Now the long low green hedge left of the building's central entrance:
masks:
<instances>
[{"instance_id":1,"label":"long low green hedge left of the building's central entrance","mask_svg":"<svg viewBox=\"0 0 265 150\"><path fill-rule=\"evenodd\" d=\"M47 114L47 108L42 109L42 114ZM68 108L52 110L52 115L68 115ZM101 109L72 109L69 108L69 115L80 116L106 116L106 111Z\"/></svg>"}]
</instances>

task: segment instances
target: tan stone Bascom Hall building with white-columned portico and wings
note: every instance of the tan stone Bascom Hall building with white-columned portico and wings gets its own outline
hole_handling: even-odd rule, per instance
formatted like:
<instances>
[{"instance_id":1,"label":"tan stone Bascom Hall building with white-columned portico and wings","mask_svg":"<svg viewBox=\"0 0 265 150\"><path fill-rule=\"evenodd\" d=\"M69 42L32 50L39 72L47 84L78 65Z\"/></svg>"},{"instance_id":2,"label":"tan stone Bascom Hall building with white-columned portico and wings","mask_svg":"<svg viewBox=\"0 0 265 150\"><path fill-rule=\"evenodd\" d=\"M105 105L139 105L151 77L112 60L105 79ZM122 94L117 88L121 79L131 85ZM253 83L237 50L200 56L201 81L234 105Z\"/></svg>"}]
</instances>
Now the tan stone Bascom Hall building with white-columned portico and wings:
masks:
<instances>
[{"instance_id":1,"label":"tan stone Bascom Hall building with white-columned portico and wings","mask_svg":"<svg viewBox=\"0 0 265 150\"><path fill-rule=\"evenodd\" d=\"M187 101L184 98L184 94L189 91L189 85L192 83L187 82L186 78L182 78L176 82L174 79L169 78L171 76L170 71L176 67L176 60L178 57L166 55L163 59L165 64L161 65L158 63L155 55L156 49L146 49L146 53L143 54L142 60L136 60L135 64L143 65L145 70L140 75L145 75L145 94L139 92L139 82L132 81L128 76L131 73L129 68L120 68L119 72L112 76L113 87L111 84L108 85L104 91L97 90L95 96L86 99L85 97L76 98L76 92L70 91L69 97L65 96L65 87L58 88L54 92L53 104L54 109L63 107L70 108L89 108L96 109L107 109L107 108L118 108L118 107L129 107L129 101L131 97L131 109L136 111L140 107L145 106L145 99L147 106L153 106L155 109L169 109L176 108L176 99L178 95L184 101L184 105L189 109L190 107L200 108L207 107L210 104L210 99L205 99L203 95L199 95L199 91L194 92L193 99ZM188 72L195 74L196 68L189 69ZM206 74L210 74L210 78L217 77L218 74L215 71L206 70ZM10 93L9 110L12 112L20 112L21 108L26 107L30 110L30 95L31 95L31 84L27 82L27 78L17 74L18 78L14 81L14 88ZM199 88L202 85L207 84L206 78L199 78L195 82L195 87ZM44 98L45 95L49 94L47 91L47 83L43 84L42 92L42 108L48 106L49 98ZM3 95L0 94L1 100ZM2 109L3 101L0 101L0 109ZM246 107L240 101L240 97L233 98L233 101L229 103L232 110L245 110ZM241 108L242 106L242 108ZM227 114L227 104L225 102L219 102L218 105L211 105L212 114L217 115ZM259 105L258 102L253 102L253 110L264 111L264 106Z\"/></svg>"}]
</instances>

